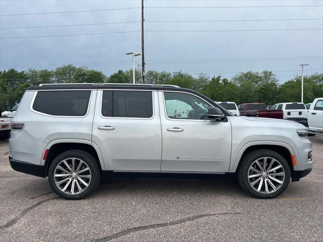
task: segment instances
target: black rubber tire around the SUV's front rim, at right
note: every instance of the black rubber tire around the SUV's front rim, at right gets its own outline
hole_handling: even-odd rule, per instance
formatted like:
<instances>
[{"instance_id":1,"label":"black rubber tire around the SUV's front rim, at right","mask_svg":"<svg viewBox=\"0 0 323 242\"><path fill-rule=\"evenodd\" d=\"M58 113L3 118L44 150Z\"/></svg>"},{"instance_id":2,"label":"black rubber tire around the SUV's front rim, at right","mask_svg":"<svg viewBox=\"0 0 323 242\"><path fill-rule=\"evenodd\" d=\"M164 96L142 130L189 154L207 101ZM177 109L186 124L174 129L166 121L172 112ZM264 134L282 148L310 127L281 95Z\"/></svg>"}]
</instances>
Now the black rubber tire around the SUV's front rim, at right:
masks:
<instances>
[{"instance_id":1,"label":"black rubber tire around the SUV's front rim, at right","mask_svg":"<svg viewBox=\"0 0 323 242\"><path fill-rule=\"evenodd\" d=\"M256 190L254 190L252 188L252 186L249 184L249 180L248 180L249 167L252 165L252 163L254 161L256 161L262 157L270 157L270 158L274 158L275 160L277 160L282 165L282 167L284 169L284 173L285 173L285 178L284 178L283 184L280 186L280 188L277 189L276 191L274 191L272 193L268 193L268 194L257 192ZM239 169L238 169L237 173L238 173L237 174L238 181L239 181L241 188L246 193L252 195L253 197L260 198L260 199L271 199L271 198L276 198L277 196L281 195L288 187L289 182L290 182L290 178L291 178L291 170L290 170L290 167L289 167L286 159L283 156L281 156L279 153L272 151L272 150L266 150L266 149L258 149L258 150L254 150L254 151L251 151L248 154L246 154L239 165ZM255 177L254 179L257 179L257 177ZM265 179L265 178L263 178L263 179Z\"/></svg>"}]
</instances>

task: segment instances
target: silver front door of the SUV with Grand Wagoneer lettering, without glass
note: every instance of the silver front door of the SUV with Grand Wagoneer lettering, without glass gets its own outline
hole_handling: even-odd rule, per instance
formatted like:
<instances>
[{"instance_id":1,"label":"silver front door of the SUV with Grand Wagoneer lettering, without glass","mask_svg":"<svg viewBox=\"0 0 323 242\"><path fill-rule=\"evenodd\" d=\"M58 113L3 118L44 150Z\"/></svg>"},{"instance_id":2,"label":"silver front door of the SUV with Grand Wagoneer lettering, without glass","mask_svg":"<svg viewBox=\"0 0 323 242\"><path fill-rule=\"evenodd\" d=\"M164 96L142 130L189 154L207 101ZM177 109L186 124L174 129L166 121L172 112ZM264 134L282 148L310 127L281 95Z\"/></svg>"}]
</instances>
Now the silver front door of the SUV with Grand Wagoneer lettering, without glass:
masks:
<instances>
[{"instance_id":1,"label":"silver front door of the SUV with Grand Wagoneer lettering, without glass","mask_svg":"<svg viewBox=\"0 0 323 242\"><path fill-rule=\"evenodd\" d=\"M158 91L163 134L161 170L228 172L231 153L230 119L227 122L211 122L167 117L163 93ZM188 113L194 118L199 115L194 110L193 114L191 110Z\"/></svg>"}]
</instances>

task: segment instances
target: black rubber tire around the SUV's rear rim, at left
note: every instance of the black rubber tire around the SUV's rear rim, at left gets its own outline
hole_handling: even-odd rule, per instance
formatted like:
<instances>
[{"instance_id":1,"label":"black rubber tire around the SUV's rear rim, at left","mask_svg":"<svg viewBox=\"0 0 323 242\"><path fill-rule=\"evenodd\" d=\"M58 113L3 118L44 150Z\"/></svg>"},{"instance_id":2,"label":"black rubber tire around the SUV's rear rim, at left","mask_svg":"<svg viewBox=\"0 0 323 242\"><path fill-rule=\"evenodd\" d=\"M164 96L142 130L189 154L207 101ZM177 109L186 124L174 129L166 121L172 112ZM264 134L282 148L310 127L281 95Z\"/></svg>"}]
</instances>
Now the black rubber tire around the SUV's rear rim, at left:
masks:
<instances>
[{"instance_id":1,"label":"black rubber tire around the SUV's rear rim, at left","mask_svg":"<svg viewBox=\"0 0 323 242\"><path fill-rule=\"evenodd\" d=\"M55 182L55 170L57 166L65 159L76 158L82 160L89 168L91 175L90 181L86 189L77 194L67 194L59 189ZM76 179L76 178L75 178ZM69 150L58 155L50 164L48 169L48 181L51 189L60 197L68 200L78 200L85 198L92 193L99 184L100 181L100 169L96 159L88 152L82 150ZM81 184L81 183L80 183ZM72 189L71 189L72 190Z\"/></svg>"}]
</instances>

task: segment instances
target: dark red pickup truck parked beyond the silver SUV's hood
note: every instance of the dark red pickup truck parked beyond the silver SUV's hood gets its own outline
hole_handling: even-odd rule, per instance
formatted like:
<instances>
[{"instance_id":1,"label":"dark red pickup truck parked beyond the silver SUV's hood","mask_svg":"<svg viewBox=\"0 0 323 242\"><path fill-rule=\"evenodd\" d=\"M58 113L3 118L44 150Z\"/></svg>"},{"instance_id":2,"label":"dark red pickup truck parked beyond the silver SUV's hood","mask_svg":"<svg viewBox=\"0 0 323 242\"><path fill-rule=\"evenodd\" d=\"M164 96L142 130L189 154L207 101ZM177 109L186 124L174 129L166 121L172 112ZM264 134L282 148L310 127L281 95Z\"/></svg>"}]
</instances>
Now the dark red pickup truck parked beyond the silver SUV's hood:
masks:
<instances>
[{"instance_id":1,"label":"dark red pickup truck parked beyond the silver SUV's hood","mask_svg":"<svg viewBox=\"0 0 323 242\"><path fill-rule=\"evenodd\" d=\"M238 105L240 116L283 118L282 110L268 110L264 103L242 103Z\"/></svg>"}]
</instances>

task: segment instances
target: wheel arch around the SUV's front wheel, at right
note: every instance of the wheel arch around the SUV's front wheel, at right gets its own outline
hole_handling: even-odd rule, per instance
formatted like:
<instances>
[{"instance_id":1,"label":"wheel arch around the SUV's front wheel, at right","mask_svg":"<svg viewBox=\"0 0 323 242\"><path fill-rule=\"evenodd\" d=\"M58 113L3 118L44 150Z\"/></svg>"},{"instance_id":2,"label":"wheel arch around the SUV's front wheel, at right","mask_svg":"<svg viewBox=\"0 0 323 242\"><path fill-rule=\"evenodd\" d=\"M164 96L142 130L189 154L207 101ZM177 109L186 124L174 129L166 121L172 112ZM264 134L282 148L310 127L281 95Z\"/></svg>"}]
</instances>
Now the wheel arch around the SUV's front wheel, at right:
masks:
<instances>
[{"instance_id":1,"label":"wheel arch around the SUV's front wheel, at right","mask_svg":"<svg viewBox=\"0 0 323 242\"><path fill-rule=\"evenodd\" d=\"M286 143L282 143L282 142L269 142L269 143L268 142L251 142L251 143L248 143L242 147L234 164L232 165L232 167L230 167L230 172L236 172L238 170L239 165L241 164L241 160L243 160L243 157L247 153L249 153L250 151L253 151L256 149L267 149L267 150L272 150L272 151L279 153L280 155L282 155L286 159L286 161L291 169L291 172L294 170L295 167L292 164L291 155L295 155L295 152L290 145L288 145Z\"/></svg>"}]
</instances>

